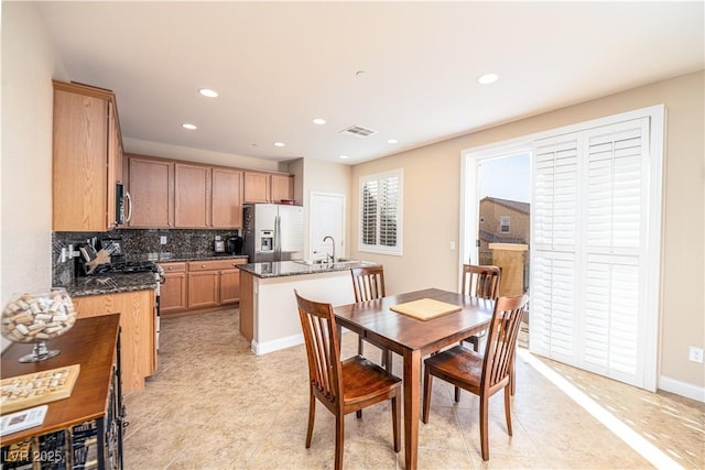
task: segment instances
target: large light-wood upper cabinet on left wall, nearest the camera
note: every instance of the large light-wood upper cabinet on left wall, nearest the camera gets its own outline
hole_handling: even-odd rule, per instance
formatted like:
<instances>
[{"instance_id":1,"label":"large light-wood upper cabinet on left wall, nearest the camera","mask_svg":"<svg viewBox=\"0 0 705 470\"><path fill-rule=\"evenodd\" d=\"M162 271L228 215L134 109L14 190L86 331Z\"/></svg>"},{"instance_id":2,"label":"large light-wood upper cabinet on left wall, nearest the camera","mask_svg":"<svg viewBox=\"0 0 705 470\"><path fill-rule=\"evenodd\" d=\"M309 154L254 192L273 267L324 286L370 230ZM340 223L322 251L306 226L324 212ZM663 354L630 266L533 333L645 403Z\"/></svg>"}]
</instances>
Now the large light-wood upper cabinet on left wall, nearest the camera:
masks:
<instances>
[{"instance_id":1,"label":"large light-wood upper cabinet on left wall, nearest the camera","mask_svg":"<svg viewBox=\"0 0 705 470\"><path fill-rule=\"evenodd\" d=\"M115 227L115 184L122 144L115 95L53 81L53 220L55 231Z\"/></svg>"}]
</instances>

